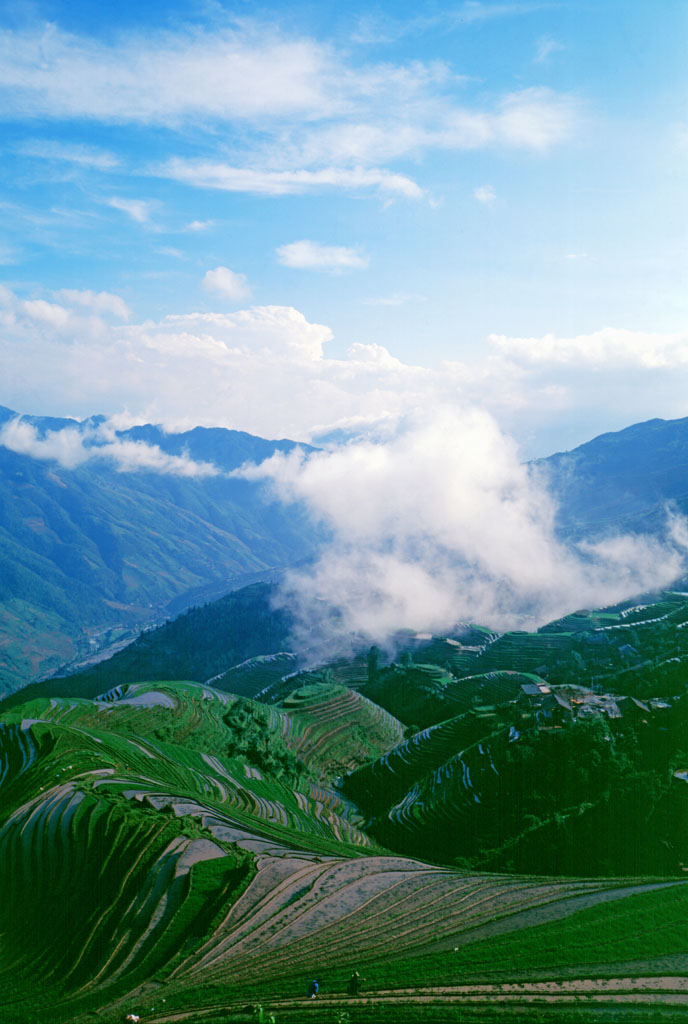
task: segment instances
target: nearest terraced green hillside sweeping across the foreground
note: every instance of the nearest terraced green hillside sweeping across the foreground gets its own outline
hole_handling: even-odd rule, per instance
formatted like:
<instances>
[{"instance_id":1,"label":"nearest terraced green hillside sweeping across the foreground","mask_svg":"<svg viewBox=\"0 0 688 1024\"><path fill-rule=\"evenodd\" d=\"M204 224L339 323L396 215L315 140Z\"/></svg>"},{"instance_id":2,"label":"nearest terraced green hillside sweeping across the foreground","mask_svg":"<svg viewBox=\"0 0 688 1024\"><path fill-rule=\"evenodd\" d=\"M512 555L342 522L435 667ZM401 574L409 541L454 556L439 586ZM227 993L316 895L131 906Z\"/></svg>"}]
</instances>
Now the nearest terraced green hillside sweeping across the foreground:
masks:
<instances>
[{"instance_id":1,"label":"nearest terraced green hillside sweeping across the foreground","mask_svg":"<svg viewBox=\"0 0 688 1024\"><path fill-rule=\"evenodd\" d=\"M294 700L312 714L316 696ZM282 1022L302 1012L314 975L325 998L309 1016L325 1021L346 1009L354 968L380 1013L389 1004L396 1020L418 1020L431 983L454 998L427 1019L466 1020L479 991L470 982L493 981L496 970L506 994L504 981L535 964L555 977L575 965L608 977L605 965L613 972L631 955L642 975L677 951L684 887L478 874L394 856L300 760L304 730L282 738L292 708L259 710L253 745L234 727L240 705L210 687L158 683L5 713L3 1020L60 1024L97 1011L115 1021L143 1010L161 1024L248 1021L259 999ZM354 725L360 712L347 714ZM338 736L346 760L347 735ZM293 771L294 757L303 770ZM629 944L629 922L644 920L662 927ZM514 1019L523 997L521 988ZM347 1012L361 1008L353 1000ZM373 1019L390 1018L361 1017Z\"/></svg>"}]
</instances>

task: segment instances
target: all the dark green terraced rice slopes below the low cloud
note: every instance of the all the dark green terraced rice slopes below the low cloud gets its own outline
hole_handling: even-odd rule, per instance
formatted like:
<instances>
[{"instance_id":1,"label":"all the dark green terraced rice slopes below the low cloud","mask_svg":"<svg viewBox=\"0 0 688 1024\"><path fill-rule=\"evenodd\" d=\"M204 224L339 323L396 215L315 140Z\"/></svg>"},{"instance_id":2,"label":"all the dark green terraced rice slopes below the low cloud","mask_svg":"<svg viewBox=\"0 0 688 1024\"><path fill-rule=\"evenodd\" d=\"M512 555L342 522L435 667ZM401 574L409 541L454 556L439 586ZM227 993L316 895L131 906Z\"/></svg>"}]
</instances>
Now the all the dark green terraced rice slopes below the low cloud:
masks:
<instances>
[{"instance_id":1,"label":"all the dark green terraced rice slopes below the low cloud","mask_svg":"<svg viewBox=\"0 0 688 1024\"><path fill-rule=\"evenodd\" d=\"M598 643L629 622L649 681ZM0 731L3 1020L681 1019L686 708L666 689L687 622L668 593L482 644L408 634L389 665L281 677L268 650L212 684L118 682L124 651L19 691ZM489 668L500 645L518 671ZM547 658L551 685L525 671ZM596 692L569 681L582 658ZM562 744L573 777L539 795L527 773Z\"/></svg>"}]
</instances>

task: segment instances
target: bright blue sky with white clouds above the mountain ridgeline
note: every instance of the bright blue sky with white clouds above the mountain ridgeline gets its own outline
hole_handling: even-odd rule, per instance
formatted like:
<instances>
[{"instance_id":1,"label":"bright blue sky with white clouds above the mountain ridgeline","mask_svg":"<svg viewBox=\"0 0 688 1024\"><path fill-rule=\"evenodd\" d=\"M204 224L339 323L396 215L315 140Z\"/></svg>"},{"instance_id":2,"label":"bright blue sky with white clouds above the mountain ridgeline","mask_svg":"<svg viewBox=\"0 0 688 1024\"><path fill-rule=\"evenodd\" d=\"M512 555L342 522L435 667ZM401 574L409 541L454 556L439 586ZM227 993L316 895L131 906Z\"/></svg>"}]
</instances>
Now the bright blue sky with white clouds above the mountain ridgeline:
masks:
<instances>
[{"instance_id":1,"label":"bright blue sky with white clouds above the mountain ridgeline","mask_svg":"<svg viewBox=\"0 0 688 1024\"><path fill-rule=\"evenodd\" d=\"M685 0L1 7L0 404L519 458L688 415Z\"/></svg>"}]
</instances>

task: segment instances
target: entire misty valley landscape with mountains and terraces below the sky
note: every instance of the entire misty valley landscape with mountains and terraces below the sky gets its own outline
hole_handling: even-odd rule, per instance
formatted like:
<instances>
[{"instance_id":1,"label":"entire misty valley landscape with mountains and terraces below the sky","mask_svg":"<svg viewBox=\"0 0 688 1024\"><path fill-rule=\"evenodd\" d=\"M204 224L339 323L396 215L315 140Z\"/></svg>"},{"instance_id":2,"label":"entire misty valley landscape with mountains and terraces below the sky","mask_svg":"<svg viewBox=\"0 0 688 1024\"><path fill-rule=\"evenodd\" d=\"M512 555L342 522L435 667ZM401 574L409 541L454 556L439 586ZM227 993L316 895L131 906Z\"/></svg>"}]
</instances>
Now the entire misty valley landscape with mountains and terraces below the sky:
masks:
<instances>
[{"instance_id":1,"label":"entire misty valley landscape with mountains and terraces below the sky","mask_svg":"<svg viewBox=\"0 0 688 1024\"><path fill-rule=\"evenodd\" d=\"M3 1021L682 1019L688 421L467 537L422 432L344 522L355 442L2 419Z\"/></svg>"}]
</instances>

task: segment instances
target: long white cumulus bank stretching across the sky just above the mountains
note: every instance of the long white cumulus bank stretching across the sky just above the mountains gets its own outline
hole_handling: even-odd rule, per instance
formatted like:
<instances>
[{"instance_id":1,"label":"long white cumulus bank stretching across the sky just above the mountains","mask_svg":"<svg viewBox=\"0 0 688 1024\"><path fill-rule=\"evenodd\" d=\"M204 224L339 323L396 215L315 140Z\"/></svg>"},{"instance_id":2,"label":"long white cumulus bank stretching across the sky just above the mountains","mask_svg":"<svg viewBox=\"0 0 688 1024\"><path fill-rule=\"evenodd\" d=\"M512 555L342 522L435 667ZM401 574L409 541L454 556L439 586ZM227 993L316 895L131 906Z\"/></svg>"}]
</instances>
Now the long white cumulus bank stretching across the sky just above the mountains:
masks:
<instances>
[{"instance_id":1,"label":"long white cumulus bank stretching across the sky just above the mountains","mask_svg":"<svg viewBox=\"0 0 688 1024\"><path fill-rule=\"evenodd\" d=\"M98 311L85 296L22 299L0 286L4 404L83 417L128 408L170 429L296 440L377 433L416 409L480 404L538 456L641 419L688 415L684 335L615 329L608 349L591 348L589 336L561 347L547 336L493 336L472 361L423 366L374 343L331 355L330 328L288 306L117 323L115 300L98 300Z\"/></svg>"}]
</instances>

